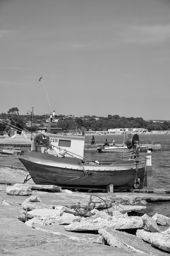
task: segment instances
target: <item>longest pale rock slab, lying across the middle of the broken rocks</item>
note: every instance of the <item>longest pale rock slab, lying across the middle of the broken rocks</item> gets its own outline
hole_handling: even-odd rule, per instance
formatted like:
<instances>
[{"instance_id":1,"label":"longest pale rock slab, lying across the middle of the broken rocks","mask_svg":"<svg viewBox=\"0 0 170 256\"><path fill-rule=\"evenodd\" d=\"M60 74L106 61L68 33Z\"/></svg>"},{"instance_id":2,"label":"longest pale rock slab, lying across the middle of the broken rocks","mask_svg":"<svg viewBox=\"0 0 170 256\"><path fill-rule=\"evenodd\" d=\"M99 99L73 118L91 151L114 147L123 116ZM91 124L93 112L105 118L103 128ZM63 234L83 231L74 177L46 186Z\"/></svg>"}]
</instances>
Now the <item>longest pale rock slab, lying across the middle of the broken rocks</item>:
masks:
<instances>
[{"instance_id":1,"label":"longest pale rock slab, lying across the middle of the broken rocks","mask_svg":"<svg viewBox=\"0 0 170 256\"><path fill-rule=\"evenodd\" d=\"M114 218L112 220L104 220L102 218L82 220L80 222L71 223L65 227L67 231L97 231L101 228L108 229L141 229L144 227L142 219L137 218Z\"/></svg>"}]
</instances>

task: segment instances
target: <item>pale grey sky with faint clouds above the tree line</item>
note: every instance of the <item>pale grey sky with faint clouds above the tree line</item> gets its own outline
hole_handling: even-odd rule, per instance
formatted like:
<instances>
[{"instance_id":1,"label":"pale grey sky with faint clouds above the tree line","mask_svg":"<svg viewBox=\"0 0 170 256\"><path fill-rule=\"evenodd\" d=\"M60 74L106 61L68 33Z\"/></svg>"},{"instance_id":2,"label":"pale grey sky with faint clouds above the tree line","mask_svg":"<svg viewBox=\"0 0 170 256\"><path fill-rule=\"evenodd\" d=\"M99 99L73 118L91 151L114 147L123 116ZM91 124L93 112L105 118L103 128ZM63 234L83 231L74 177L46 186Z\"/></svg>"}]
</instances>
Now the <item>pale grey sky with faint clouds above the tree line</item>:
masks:
<instances>
[{"instance_id":1,"label":"pale grey sky with faint clouds above the tree line","mask_svg":"<svg viewBox=\"0 0 170 256\"><path fill-rule=\"evenodd\" d=\"M0 46L0 113L170 120L170 0L0 0Z\"/></svg>"}]
</instances>

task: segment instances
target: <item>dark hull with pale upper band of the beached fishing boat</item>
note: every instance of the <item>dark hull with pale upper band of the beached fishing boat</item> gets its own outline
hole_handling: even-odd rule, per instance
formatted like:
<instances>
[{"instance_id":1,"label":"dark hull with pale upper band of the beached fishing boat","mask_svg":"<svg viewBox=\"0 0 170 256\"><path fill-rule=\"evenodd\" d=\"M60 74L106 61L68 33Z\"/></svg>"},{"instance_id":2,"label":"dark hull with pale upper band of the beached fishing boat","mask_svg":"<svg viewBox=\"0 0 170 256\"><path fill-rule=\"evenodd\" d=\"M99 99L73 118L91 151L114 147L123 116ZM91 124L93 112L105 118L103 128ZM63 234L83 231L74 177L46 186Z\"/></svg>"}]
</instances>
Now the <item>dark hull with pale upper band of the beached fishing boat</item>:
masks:
<instances>
[{"instance_id":1,"label":"dark hull with pale upper band of the beached fishing boat","mask_svg":"<svg viewBox=\"0 0 170 256\"><path fill-rule=\"evenodd\" d=\"M145 162L136 164L134 160L109 164L82 164L80 159L55 157L48 154L29 152L19 157L35 184L53 184L62 188L132 189L140 179L143 187Z\"/></svg>"}]
</instances>

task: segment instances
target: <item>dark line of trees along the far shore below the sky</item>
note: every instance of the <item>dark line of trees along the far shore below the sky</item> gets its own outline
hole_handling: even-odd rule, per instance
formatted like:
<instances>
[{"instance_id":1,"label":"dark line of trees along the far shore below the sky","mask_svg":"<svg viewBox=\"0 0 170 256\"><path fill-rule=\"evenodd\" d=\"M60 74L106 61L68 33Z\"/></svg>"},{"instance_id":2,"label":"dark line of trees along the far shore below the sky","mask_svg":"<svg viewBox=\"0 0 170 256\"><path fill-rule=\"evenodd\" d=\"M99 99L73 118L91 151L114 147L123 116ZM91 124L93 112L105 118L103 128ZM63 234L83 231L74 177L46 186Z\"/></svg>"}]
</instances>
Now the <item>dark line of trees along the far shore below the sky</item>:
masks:
<instances>
[{"instance_id":1,"label":"dark line of trees along the far shore below the sky","mask_svg":"<svg viewBox=\"0 0 170 256\"><path fill-rule=\"evenodd\" d=\"M49 115L33 115L32 130L35 131L40 127L47 126L46 119ZM7 113L1 113L0 119L12 118L23 128L30 130L26 124L31 120L30 115L19 115L18 108L11 108ZM74 117L65 115L56 115L59 119L57 123L52 123L52 127L66 128L67 130L108 130L111 128L144 128L148 131L153 130L170 130L170 121L145 121L141 117L120 117L119 115L108 115L107 117L84 116Z\"/></svg>"}]
</instances>

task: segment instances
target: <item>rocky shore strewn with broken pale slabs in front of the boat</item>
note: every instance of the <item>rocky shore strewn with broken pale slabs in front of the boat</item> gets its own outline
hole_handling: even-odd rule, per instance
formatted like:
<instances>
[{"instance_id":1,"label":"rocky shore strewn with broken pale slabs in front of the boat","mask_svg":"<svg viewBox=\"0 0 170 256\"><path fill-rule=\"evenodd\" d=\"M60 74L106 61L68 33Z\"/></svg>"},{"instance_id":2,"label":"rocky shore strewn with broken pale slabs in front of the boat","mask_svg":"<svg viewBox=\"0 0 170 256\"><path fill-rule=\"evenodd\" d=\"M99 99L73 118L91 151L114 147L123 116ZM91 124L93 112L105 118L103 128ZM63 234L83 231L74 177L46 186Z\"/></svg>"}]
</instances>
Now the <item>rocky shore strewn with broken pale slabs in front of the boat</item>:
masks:
<instances>
[{"instance_id":1,"label":"rocky shore strewn with broken pale slabs in front of the boat","mask_svg":"<svg viewBox=\"0 0 170 256\"><path fill-rule=\"evenodd\" d=\"M168 194L92 194L23 184L24 170L3 166L0 175L9 181L0 184L1 255L170 253L170 218L146 214L148 202L170 201Z\"/></svg>"}]
</instances>

